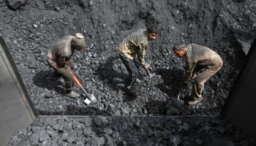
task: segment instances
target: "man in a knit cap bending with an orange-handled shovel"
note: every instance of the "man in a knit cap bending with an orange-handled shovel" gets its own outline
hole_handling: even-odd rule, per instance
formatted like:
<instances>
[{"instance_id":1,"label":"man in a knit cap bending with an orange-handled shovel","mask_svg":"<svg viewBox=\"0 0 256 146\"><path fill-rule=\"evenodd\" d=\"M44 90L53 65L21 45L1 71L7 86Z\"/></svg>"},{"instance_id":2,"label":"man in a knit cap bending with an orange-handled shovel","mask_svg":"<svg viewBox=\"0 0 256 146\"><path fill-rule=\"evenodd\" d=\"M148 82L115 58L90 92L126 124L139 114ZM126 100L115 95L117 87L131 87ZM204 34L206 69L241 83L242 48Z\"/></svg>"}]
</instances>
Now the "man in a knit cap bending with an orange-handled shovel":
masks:
<instances>
[{"instance_id":1,"label":"man in a knit cap bending with an orange-handled shovel","mask_svg":"<svg viewBox=\"0 0 256 146\"><path fill-rule=\"evenodd\" d=\"M83 35L77 33L75 36L62 37L48 52L48 64L55 70L55 74L60 74L64 77L66 96L71 98L76 98L80 94L73 91L75 80L69 70L73 69L75 65L70 58L75 50L83 50L85 46L86 41Z\"/></svg>"}]
</instances>

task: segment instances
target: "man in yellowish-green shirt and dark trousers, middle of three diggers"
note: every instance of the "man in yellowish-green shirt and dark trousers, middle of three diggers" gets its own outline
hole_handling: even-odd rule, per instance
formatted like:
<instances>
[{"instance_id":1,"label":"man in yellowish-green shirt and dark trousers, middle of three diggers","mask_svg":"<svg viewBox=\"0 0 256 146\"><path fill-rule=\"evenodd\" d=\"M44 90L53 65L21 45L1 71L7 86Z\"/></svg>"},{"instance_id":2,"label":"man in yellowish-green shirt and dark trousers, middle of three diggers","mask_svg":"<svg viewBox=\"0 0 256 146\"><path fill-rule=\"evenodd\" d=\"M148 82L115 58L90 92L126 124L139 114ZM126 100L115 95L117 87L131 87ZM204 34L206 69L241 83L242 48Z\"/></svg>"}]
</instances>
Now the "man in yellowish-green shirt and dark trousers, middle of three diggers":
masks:
<instances>
[{"instance_id":1,"label":"man in yellowish-green shirt and dark trousers, middle of three diggers","mask_svg":"<svg viewBox=\"0 0 256 146\"><path fill-rule=\"evenodd\" d=\"M124 86L131 94L136 93L134 85L138 77L140 64L145 70L148 69L144 59L148 42L156 39L158 33L158 28L155 25L148 26L147 30L139 29L129 34L118 47L119 57L129 73Z\"/></svg>"}]
</instances>

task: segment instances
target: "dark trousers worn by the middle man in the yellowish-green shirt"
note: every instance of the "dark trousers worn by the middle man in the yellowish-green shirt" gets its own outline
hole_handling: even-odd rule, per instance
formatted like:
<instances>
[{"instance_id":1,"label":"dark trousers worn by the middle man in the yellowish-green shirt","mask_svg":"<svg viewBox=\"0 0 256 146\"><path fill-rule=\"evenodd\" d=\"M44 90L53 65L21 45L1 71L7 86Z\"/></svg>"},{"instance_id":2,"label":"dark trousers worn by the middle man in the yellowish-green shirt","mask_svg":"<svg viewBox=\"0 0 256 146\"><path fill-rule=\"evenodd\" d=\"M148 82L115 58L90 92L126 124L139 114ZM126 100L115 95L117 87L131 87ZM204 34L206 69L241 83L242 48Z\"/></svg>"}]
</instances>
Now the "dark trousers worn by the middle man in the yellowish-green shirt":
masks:
<instances>
[{"instance_id":1,"label":"dark trousers worn by the middle man in the yellowish-green shirt","mask_svg":"<svg viewBox=\"0 0 256 146\"><path fill-rule=\"evenodd\" d=\"M124 86L130 89L133 87L133 85L135 85L135 81L138 77L140 61L138 60L138 58L136 58L135 61L133 61L132 59L126 58L120 54L119 57L121 58L121 61L123 62L124 66L127 68L127 71L129 73L127 81L125 82Z\"/></svg>"}]
</instances>

